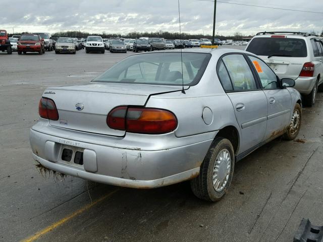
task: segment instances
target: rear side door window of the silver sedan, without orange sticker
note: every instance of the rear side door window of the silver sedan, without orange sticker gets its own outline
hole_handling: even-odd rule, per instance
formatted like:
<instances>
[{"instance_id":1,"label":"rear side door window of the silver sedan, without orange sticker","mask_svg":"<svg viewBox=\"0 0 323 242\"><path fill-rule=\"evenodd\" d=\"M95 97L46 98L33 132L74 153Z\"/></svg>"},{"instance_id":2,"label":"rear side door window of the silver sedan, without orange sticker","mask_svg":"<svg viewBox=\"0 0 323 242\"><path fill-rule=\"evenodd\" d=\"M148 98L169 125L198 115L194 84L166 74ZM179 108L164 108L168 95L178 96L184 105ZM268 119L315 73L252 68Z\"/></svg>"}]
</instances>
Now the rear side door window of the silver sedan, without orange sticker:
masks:
<instances>
[{"instance_id":1,"label":"rear side door window of the silver sedan, without orange sticker","mask_svg":"<svg viewBox=\"0 0 323 242\"><path fill-rule=\"evenodd\" d=\"M242 54L229 54L222 59L227 67L235 91L257 89L251 69Z\"/></svg>"}]
</instances>

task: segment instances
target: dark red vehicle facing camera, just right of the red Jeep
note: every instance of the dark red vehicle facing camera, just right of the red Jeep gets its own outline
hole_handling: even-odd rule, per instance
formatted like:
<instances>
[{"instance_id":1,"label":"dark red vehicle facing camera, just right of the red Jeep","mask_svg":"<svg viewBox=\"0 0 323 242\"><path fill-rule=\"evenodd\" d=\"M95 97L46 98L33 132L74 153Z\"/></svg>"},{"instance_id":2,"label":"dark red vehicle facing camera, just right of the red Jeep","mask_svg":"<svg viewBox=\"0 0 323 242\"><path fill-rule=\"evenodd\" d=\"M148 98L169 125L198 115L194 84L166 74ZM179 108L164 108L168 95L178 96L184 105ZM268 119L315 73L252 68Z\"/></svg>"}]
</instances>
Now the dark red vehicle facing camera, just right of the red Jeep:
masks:
<instances>
[{"instance_id":1,"label":"dark red vehicle facing camera, just right of the red Jeep","mask_svg":"<svg viewBox=\"0 0 323 242\"><path fill-rule=\"evenodd\" d=\"M26 52L45 53L45 42L38 34L22 34L17 43L18 54Z\"/></svg>"}]
</instances>

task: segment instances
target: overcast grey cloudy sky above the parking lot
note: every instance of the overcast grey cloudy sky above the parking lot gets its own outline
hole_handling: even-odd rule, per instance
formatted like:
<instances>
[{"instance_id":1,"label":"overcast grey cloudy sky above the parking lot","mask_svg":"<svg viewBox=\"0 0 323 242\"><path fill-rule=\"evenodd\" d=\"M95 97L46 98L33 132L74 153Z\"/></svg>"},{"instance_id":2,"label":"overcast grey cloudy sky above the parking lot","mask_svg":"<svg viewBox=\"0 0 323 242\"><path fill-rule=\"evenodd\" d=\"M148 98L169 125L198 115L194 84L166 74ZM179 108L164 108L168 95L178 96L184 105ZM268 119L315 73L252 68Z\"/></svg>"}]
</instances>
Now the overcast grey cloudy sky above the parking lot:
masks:
<instances>
[{"instance_id":1,"label":"overcast grey cloudy sky above the parking lot","mask_svg":"<svg viewBox=\"0 0 323 242\"><path fill-rule=\"evenodd\" d=\"M221 1L221 0L220 0ZM1 1L0 29L102 33L179 32L177 0ZM222 0L222 2L323 12L323 0ZM310 4L309 4L310 3ZM212 33L212 2L180 0L182 32ZM321 32L323 14L218 3L216 32L244 35L259 31Z\"/></svg>"}]
</instances>

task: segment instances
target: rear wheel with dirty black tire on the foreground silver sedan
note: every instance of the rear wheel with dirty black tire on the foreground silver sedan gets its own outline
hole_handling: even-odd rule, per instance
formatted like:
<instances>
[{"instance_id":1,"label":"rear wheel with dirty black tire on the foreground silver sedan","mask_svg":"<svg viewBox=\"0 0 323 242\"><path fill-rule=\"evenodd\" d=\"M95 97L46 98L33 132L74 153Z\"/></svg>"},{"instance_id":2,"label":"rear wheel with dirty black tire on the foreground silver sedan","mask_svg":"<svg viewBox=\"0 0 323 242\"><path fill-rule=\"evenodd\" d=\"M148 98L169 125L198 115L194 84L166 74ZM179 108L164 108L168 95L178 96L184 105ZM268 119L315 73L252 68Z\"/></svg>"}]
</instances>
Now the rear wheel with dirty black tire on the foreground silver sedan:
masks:
<instances>
[{"instance_id":1,"label":"rear wheel with dirty black tire on the foreground silver sedan","mask_svg":"<svg viewBox=\"0 0 323 242\"><path fill-rule=\"evenodd\" d=\"M217 165L218 167L216 167L216 163L220 162L219 158L222 155L225 155L224 157L227 157L227 159L226 161L224 160L219 163ZM203 163L200 166L200 174L191 180L191 189L194 195L200 199L211 202L216 202L222 199L230 187L234 171L234 163L235 156L231 142L222 137L214 139L207 151ZM230 167L228 167L229 164ZM220 169L220 173L217 177L220 177L222 180L219 184L216 184L218 185L218 191L213 186L214 168Z\"/></svg>"}]
</instances>

